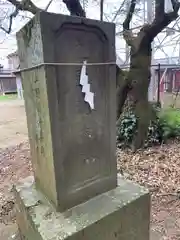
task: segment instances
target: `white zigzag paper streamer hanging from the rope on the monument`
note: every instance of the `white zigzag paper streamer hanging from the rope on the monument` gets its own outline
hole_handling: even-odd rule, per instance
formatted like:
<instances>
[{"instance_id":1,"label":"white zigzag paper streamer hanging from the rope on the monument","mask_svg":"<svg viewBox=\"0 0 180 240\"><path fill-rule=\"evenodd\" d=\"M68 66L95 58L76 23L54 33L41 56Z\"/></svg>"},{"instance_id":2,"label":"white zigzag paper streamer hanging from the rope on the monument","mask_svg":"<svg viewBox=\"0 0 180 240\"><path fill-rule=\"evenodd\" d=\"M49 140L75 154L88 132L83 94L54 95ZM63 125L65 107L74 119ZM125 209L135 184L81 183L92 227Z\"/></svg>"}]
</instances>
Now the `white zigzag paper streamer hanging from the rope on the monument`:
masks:
<instances>
[{"instance_id":1,"label":"white zigzag paper streamer hanging from the rope on the monument","mask_svg":"<svg viewBox=\"0 0 180 240\"><path fill-rule=\"evenodd\" d=\"M88 76L86 74L87 61L83 62L80 76L80 84L82 92L85 93L84 101L87 102L91 109L94 109L94 93L90 91L90 84L88 83Z\"/></svg>"}]
</instances>

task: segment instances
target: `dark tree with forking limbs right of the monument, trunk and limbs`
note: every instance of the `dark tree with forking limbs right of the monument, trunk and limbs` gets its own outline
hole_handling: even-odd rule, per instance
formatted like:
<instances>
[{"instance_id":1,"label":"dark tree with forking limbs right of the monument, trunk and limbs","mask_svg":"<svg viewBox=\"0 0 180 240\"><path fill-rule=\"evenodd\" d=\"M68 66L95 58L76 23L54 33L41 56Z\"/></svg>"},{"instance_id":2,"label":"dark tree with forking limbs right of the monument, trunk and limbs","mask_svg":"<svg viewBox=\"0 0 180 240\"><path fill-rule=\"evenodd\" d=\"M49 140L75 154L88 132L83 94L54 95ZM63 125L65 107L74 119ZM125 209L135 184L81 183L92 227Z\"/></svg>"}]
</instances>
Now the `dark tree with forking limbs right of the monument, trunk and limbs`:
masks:
<instances>
[{"instance_id":1,"label":"dark tree with forking limbs right of the monument, trunk and limbs","mask_svg":"<svg viewBox=\"0 0 180 240\"><path fill-rule=\"evenodd\" d=\"M123 36L130 46L130 69L127 78L120 82L117 92L117 116L122 112L124 103L130 95L133 109L137 117L137 133L134 136L134 149L143 146L148 126L153 118L153 109L148 102L148 88L151 79L151 44L154 38L178 17L180 3L171 0L173 9L165 13L165 0L156 0L155 18L151 24L142 26L137 36L130 30L130 22L134 14L136 0L131 0L129 11L123 23ZM121 79L120 79L121 81Z\"/></svg>"}]
</instances>

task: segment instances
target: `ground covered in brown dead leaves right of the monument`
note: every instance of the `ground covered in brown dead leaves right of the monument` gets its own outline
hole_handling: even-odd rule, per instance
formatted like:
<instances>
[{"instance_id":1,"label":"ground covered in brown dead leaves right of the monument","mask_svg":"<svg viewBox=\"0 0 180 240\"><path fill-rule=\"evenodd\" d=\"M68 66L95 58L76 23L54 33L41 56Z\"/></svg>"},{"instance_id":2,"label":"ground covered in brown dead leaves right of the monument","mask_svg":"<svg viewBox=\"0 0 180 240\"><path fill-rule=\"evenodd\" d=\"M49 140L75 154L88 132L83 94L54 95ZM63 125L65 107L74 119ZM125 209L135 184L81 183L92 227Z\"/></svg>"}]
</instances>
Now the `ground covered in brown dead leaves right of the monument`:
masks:
<instances>
[{"instance_id":1,"label":"ground covered in brown dead leaves right of the monument","mask_svg":"<svg viewBox=\"0 0 180 240\"><path fill-rule=\"evenodd\" d=\"M125 177L151 192L151 240L180 239L180 142L136 154L117 151L118 168Z\"/></svg>"}]
</instances>

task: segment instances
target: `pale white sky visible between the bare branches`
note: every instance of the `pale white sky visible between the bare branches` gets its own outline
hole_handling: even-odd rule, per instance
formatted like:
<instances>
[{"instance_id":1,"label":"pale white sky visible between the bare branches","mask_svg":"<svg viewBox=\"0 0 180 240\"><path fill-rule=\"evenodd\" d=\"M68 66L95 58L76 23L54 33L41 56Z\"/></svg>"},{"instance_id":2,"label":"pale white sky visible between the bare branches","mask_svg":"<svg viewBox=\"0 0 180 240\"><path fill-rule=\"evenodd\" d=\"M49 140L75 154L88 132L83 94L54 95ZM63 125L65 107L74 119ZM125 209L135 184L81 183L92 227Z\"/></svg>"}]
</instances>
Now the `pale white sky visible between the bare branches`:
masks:
<instances>
[{"instance_id":1,"label":"pale white sky visible between the bare branches","mask_svg":"<svg viewBox=\"0 0 180 240\"><path fill-rule=\"evenodd\" d=\"M132 27L139 29L140 26L144 22L147 22L147 11L143 11L145 8L147 10L147 0L140 0L141 4L137 6L139 9L138 13L136 13L133 17ZM149 0L150 1L150 0ZM41 8L45 8L48 4L49 0L34 0L34 3ZM104 0L104 20L112 21L115 18L115 12L120 7L123 2L128 2L128 0ZM125 7L124 7L125 9ZM0 0L0 22L3 27L8 28L8 17L11 12L14 10L13 5L8 4L7 0ZM88 4L85 4L85 10L88 18L91 19L99 19L100 10L99 10L99 1L98 0L89 0ZM53 0L51 6L48 9L49 12L61 13L61 14L69 14L67 11L65 4L62 3L61 0ZM5 17L5 20L3 20ZM13 30L11 34L5 34L2 30L0 30L0 64L3 64L4 67L8 67L6 56L9 53L14 52L17 49L16 45L16 32L25 25L31 14L21 12L19 16L13 21ZM116 32L119 33L116 36L116 50L118 56L125 62L125 41L122 37L122 22L125 18L125 12L121 13L115 19L116 23ZM179 55L179 44L180 44L180 20L176 23L172 23L170 27L173 27L173 35L167 36L167 31L158 35L158 38L155 40L155 58L164 58L170 57L169 59L173 61L173 57L177 57ZM174 30L175 29L175 30ZM172 30L172 29L171 29ZM160 44L162 43L162 44ZM163 48L161 46L164 46Z\"/></svg>"}]
</instances>

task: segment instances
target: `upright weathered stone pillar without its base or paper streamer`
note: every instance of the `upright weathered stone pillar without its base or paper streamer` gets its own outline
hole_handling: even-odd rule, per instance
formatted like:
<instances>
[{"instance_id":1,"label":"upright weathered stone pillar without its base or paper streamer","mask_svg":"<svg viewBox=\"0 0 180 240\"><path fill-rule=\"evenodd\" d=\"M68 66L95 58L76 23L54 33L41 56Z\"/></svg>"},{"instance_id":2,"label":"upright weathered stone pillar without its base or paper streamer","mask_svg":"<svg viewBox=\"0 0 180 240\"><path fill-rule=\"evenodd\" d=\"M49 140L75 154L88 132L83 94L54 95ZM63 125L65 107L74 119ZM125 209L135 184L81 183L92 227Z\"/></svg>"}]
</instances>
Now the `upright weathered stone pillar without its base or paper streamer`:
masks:
<instances>
[{"instance_id":1,"label":"upright weathered stone pillar without its base or paper streamer","mask_svg":"<svg viewBox=\"0 0 180 240\"><path fill-rule=\"evenodd\" d=\"M115 65L88 66L95 110L84 101L81 66L115 62L115 26L40 13L18 34L37 186L64 211L117 185Z\"/></svg>"}]
</instances>

